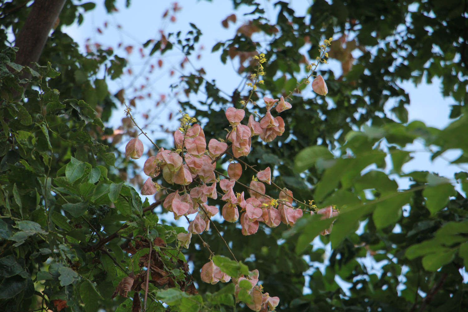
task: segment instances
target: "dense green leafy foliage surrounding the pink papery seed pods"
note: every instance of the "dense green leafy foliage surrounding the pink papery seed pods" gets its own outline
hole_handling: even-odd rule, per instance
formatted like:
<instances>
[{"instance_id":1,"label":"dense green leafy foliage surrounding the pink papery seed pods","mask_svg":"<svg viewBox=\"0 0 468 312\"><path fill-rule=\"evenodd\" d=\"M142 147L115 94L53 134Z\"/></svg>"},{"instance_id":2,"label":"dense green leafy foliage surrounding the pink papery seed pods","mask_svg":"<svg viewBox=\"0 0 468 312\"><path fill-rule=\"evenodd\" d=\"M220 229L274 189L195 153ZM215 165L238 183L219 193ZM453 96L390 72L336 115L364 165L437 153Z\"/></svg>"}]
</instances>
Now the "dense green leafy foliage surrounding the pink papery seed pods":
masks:
<instances>
[{"instance_id":1,"label":"dense green leafy foliage surrounding the pink papery seed pods","mask_svg":"<svg viewBox=\"0 0 468 312\"><path fill-rule=\"evenodd\" d=\"M352 6L340 1L315 1L307 16L297 16L287 3L279 1L275 4L276 20L268 21L263 17L263 7L253 1L233 4L234 9L252 7L247 15L250 22L234 38L216 44L213 51L222 49L223 62L241 59L239 72L251 85L234 89L227 97L215 82L205 80L203 71L196 71L183 76L180 86L187 94L203 91L208 96L199 104L181 99L182 110L193 111L191 117L198 120L209 120L203 125L206 144L211 138L226 138L225 128L234 129L229 124L236 126L241 112L232 107L242 109L247 104L247 112L258 110L263 117L267 114L264 105L270 101L262 100L263 96L283 96L292 107L280 113L284 135L268 144L252 138L248 155L234 157L233 151L234 156L222 156L216 170L231 178L236 176L234 191L247 194L248 189L241 185L251 185L250 177L269 167L279 189L268 186L266 196L287 204L291 191L294 210L319 213L304 214L286 222L289 226L270 228L260 223L258 232L249 236L231 223L211 220L212 229L201 235L203 240L184 249L187 229L158 223L158 214L154 213L160 211L154 209L167 199L166 195L161 201L141 203L135 189L112 167L115 155L117 163L129 164L115 147L106 150L103 141L112 133L102 131L102 121L110 116L118 94L111 96L106 81L96 79L95 74L107 64L110 79L116 78L125 60L99 49L80 55L60 27L72 23L75 17L80 21L80 10L94 6L66 2L59 25L39 60L42 67L34 70L23 67L28 64L16 65L12 48L1 54L2 140L7 144L0 153L5 198L0 203L5 241L0 258L0 297L8 311L54 306L58 311L67 306L79 311L81 303L87 312L117 306L118 311L138 311L145 304L147 311L163 311L161 302L179 311L228 311L233 309L234 291L235 299L241 301L238 310L255 309L257 290L242 283L244 280L237 280L235 290L233 283L219 286L201 281L198 272L202 267L203 280L210 276L222 279L212 275L214 265L234 278L249 276L250 281L256 276L249 270L258 269L263 291L279 297L277 310L450 311L466 305L458 271L468 263L467 200L454 185L466 191L468 173L461 168L453 179L447 179L429 171L403 173L402 165L411 158L405 145L415 139L424 140L433 159L446 150L460 149L461 157L452 163L466 162L468 38L467 21L461 12L467 14L467 8L458 1L384 1ZM106 1L106 6L111 12L114 4ZM11 26L16 33L29 8L9 2L2 9L15 12L4 13L2 43L7 47L5 29ZM231 15L223 25L232 19ZM202 36L196 25L192 28L186 41L180 33L148 41L144 45L147 54L179 47L190 58ZM256 41L258 34L262 42L268 38L267 44ZM322 64L321 72L312 74L323 74L329 94L308 97L302 95L311 88L305 83L304 71L316 68L308 60L317 56L326 59L317 52L327 48L328 42L320 46L324 35L335 39L326 51L341 62L342 73L336 77ZM307 55L299 52L304 46L310 46ZM360 56L353 51L360 51ZM266 74L260 75L258 65L263 58L260 64ZM15 92L23 94L20 77L25 71L31 78L24 98L20 98ZM258 83L260 76L264 84ZM412 80L417 84L424 76L429 81L434 76L442 78L443 94L457 103L451 113L456 120L446 129L407 122L404 105L409 103L409 96L398 82ZM316 87L314 90L324 93ZM398 121L383 110L384 104L395 98L400 102L391 111ZM250 101L258 107L253 108ZM94 114L101 110L102 121ZM133 119L132 112L127 109L127 113ZM193 146L193 142L185 142L187 132L193 132L192 119L186 116L182 122L183 132L178 133L182 133L183 144L176 146L176 153L203 152L205 148L198 151L196 142ZM242 123L247 124L246 120ZM188 136L192 141L197 137ZM161 147L163 142L155 143ZM138 150L129 152L140 154ZM177 185L186 181L175 181L173 161L159 162L162 177L156 176L148 184L158 182L166 190L184 189ZM227 163L241 162L246 166L242 166L239 177L239 166L229 168ZM374 169L363 171L370 165ZM268 180L267 174L262 174L258 179ZM409 178L409 188L398 189L395 176ZM282 188L289 191L281 194ZM219 186L218 191L225 193ZM225 202L220 198L208 203L221 208ZM314 203L309 202L312 199ZM179 203L173 199L170 203L177 213L180 207L175 209L174 205ZM319 210L330 205L339 210L338 216L330 209ZM329 218L322 219L325 212ZM359 224L364 231L356 232ZM328 264L323 259L323 247L310 244L327 230L330 234L323 232L326 235L320 240L331 242ZM217 231L222 234L217 235ZM216 254L213 262L209 261L210 253ZM367 263L379 262L379 270L371 270L362 261L364 257ZM317 269L320 266L322 270ZM151 279L146 272L151 273ZM351 286L341 288L336 276ZM304 295L304 286L311 293ZM112 300L114 290L117 298ZM133 298L125 300L129 295Z\"/></svg>"}]
</instances>

